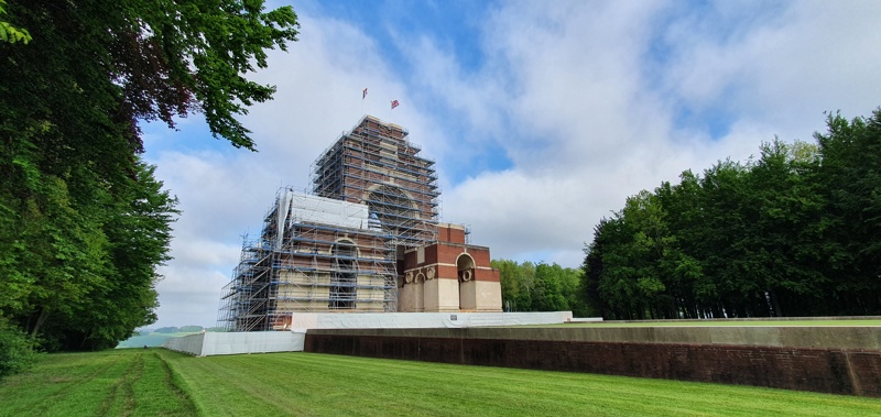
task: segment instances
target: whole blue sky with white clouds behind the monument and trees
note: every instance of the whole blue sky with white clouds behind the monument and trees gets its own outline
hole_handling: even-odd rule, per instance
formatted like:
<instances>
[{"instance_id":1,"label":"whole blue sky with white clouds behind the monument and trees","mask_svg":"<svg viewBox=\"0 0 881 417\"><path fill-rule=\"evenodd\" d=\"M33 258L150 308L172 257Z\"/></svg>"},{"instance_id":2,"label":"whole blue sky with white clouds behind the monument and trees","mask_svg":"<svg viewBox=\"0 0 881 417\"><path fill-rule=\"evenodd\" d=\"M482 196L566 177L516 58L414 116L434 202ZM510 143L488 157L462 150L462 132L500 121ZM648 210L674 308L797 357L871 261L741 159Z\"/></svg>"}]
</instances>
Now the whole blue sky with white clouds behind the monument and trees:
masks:
<instances>
[{"instance_id":1,"label":"whole blue sky with white clouds behind the monument and trees","mask_svg":"<svg viewBox=\"0 0 881 417\"><path fill-rule=\"evenodd\" d=\"M577 267L628 196L774 135L811 141L824 111L881 106L877 1L292 4L300 41L252 74L275 99L242 118L260 152L213 139L198 114L144 128L183 210L155 326L215 323L241 235L363 114L437 161L443 220L472 243Z\"/></svg>"}]
</instances>

